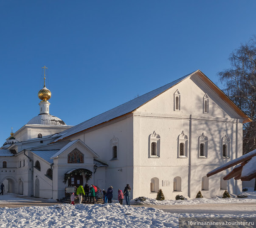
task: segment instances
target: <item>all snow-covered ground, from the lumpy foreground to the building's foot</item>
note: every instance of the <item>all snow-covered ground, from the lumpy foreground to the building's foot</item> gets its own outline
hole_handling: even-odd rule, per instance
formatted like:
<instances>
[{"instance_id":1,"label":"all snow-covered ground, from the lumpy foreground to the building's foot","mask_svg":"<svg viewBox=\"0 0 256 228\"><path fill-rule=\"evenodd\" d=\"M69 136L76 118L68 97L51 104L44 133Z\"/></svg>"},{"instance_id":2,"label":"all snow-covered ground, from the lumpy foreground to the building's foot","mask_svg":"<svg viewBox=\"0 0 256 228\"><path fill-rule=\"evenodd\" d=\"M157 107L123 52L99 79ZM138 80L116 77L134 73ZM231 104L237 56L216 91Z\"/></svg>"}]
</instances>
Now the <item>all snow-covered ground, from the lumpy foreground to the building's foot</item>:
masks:
<instances>
[{"instance_id":1,"label":"all snow-covered ground, from the lumpy foreground to the building's foot","mask_svg":"<svg viewBox=\"0 0 256 228\"><path fill-rule=\"evenodd\" d=\"M245 192L248 198L191 199L185 201L155 201L147 199L153 205L181 205L204 203L255 203L256 192ZM17 202L53 203L53 200L36 199L8 194L0 196L0 204ZM207 205L207 204L205 204ZM213 204L212 204L213 205ZM140 206L126 206L119 203L109 204L56 204L52 206L28 206L0 209L0 227L178 227L179 217L238 217L237 214L196 214L169 213L163 210ZM234 204L232 204L234 207ZM189 208L189 205L188 205ZM252 211L253 212L253 211ZM204 213L204 212L203 212ZM242 212L239 217L256 217L256 213Z\"/></svg>"}]
</instances>

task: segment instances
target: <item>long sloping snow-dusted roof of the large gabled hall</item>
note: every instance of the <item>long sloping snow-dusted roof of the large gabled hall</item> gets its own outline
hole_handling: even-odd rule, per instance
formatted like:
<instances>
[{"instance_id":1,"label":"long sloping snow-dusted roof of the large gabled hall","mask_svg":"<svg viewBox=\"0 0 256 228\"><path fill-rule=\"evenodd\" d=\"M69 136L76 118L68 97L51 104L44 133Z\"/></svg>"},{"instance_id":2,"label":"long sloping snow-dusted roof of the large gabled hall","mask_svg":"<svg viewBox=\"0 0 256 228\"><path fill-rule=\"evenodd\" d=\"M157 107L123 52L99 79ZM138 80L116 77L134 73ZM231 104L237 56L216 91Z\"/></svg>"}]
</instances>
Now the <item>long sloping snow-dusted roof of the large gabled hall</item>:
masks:
<instances>
[{"instance_id":1,"label":"long sloping snow-dusted roof of the large gabled hall","mask_svg":"<svg viewBox=\"0 0 256 228\"><path fill-rule=\"evenodd\" d=\"M194 71L195 72L195 71ZM173 82L170 82L166 85L161 86L160 88L157 88L153 91L150 91L149 93L143 94L142 96L139 96L129 102L126 102L124 104L119 105L118 107L115 107L111 110L108 110L105 113L101 113L100 115L97 115L87 121L82 122L81 124L78 124L76 126L73 126L70 129L67 129L61 133L58 134L59 138L57 140L61 140L65 137L68 137L70 135L73 135L77 132L81 132L85 129L88 129L90 127L96 126L98 124L102 124L104 122L110 121L116 117L119 117L121 115L125 115L127 113L130 113L134 110L136 110L138 107L141 105L145 104L146 102L149 102L151 99L155 98L156 96L160 95L164 91L168 90L172 86L176 85L177 83L181 82L184 80L186 77L190 76L194 72L187 74Z\"/></svg>"}]
</instances>

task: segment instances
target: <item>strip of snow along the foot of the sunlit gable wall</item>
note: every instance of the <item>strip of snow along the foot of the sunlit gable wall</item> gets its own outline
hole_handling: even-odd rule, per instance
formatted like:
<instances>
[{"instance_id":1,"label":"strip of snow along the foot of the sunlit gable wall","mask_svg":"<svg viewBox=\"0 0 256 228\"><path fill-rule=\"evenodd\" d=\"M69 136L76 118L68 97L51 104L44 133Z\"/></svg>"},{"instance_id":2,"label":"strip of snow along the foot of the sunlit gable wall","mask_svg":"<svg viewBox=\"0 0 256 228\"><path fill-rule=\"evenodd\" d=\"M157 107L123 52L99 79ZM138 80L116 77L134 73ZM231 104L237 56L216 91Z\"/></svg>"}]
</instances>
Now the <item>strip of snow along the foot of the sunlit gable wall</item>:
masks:
<instances>
[{"instance_id":1,"label":"strip of snow along the foot of the sunlit gable wall","mask_svg":"<svg viewBox=\"0 0 256 228\"><path fill-rule=\"evenodd\" d=\"M146 201L135 201L132 200L131 204L152 204L152 205L191 205L191 204L200 204L200 203L256 203L256 191L253 191L253 188L249 188L249 191L242 192L246 194L248 198L195 198L189 200L163 200L157 201L156 199L146 198Z\"/></svg>"}]
</instances>

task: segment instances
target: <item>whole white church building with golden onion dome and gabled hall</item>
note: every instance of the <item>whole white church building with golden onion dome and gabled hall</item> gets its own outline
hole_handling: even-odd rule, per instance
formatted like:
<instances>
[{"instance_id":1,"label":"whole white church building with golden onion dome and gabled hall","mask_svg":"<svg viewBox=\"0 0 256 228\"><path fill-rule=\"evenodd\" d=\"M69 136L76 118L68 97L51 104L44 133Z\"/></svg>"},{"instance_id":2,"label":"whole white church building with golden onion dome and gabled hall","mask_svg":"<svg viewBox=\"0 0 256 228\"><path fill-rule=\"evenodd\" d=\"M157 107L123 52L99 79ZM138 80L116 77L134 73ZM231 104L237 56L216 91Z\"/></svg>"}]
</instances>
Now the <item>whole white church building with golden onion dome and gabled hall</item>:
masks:
<instances>
[{"instance_id":1,"label":"whole white church building with golden onion dome and gabled hall","mask_svg":"<svg viewBox=\"0 0 256 228\"><path fill-rule=\"evenodd\" d=\"M206 174L242 155L242 124L250 122L200 70L76 126L49 114L51 92L38 93L39 115L0 148L6 192L61 199L65 187L132 188L131 197L166 199L236 194L229 170Z\"/></svg>"}]
</instances>

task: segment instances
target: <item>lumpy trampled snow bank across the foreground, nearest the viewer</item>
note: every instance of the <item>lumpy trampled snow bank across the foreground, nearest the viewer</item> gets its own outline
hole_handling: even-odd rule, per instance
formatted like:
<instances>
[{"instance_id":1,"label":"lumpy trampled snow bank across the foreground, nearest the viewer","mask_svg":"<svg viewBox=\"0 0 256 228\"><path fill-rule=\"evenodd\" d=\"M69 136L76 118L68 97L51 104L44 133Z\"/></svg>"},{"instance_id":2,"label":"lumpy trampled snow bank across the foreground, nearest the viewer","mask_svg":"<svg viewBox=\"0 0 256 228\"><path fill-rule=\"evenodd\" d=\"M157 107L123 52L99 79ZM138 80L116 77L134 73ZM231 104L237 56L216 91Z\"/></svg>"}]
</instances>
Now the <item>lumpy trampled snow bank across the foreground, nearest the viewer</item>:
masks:
<instances>
[{"instance_id":1,"label":"lumpy trampled snow bank across the foreground, nearest the viewer","mask_svg":"<svg viewBox=\"0 0 256 228\"><path fill-rule=\"evenodd\" d=\"M255 217L256 214L241 214ZM149 207L109 204L59 204L2 208L0 227L178 227L179 217L237 217L232 214L171 214Z\"/></svg>"}]
</instances>

